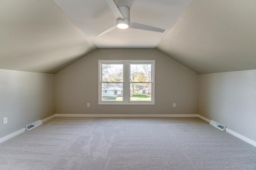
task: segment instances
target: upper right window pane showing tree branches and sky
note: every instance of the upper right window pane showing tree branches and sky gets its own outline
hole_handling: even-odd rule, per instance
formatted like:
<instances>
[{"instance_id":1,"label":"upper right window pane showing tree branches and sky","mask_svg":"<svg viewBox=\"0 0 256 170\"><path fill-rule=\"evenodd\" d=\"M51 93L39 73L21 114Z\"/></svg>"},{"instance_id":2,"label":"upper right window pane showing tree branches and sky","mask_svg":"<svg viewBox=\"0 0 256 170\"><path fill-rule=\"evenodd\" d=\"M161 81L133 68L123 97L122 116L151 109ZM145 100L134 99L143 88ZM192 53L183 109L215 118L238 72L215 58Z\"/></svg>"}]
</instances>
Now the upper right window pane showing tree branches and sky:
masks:
<instances>
[{"instance_id":1,"label":"upper right window pane showing tree branches and sky","mask_svg":"<svg viewBox=\"0 0 256 170\"><path fill-rule=\"evenodd\" d=\"M152 82L152 64L130 64L131 82Z\"/></svg>"}]
</instances>

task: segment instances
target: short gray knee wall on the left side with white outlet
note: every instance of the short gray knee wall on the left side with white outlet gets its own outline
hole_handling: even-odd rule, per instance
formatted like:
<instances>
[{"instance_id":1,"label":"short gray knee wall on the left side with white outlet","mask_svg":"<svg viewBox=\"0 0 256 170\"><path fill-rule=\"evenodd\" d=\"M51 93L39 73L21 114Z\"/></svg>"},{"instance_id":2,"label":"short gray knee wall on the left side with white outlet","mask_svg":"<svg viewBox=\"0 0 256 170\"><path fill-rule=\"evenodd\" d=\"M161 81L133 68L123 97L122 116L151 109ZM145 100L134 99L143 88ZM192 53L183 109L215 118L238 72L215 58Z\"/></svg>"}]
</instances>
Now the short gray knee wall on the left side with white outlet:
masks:
<instances>
[{"instance_id":1,"label":"short gray knee wall on the left side with white outlet","mask_svg":"<svg viewBox=\"0 0 256 170\"><path fill-rule=\"evenodd\" d=\"M54 115L54 86L54 74L0 69L0 138Z\"/></svg>"}]
</instances>

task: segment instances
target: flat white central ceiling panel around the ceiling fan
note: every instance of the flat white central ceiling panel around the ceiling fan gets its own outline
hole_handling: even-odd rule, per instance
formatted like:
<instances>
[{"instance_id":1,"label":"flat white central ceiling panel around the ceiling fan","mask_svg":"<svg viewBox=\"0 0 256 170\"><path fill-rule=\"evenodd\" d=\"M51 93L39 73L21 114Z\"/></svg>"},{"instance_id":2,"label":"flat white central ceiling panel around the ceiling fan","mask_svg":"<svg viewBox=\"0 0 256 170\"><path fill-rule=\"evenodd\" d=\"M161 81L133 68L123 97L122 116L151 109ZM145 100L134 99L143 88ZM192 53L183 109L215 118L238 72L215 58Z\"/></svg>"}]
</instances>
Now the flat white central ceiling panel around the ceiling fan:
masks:
<instances>
[{"instance_id":1,"label":"flat white central ceiling panel around the ceiling fan","mask_svg":"<svg viewBox=\"0 0 256 170\"><path fill-rule=\"evenodd\" d=\"M116 18L105 0L54 0L98 48L155 48L191 0L115 0L130 8L130 21L166 29L164 33L128 28L115 29Z\"/></svg>"}]
</instances>

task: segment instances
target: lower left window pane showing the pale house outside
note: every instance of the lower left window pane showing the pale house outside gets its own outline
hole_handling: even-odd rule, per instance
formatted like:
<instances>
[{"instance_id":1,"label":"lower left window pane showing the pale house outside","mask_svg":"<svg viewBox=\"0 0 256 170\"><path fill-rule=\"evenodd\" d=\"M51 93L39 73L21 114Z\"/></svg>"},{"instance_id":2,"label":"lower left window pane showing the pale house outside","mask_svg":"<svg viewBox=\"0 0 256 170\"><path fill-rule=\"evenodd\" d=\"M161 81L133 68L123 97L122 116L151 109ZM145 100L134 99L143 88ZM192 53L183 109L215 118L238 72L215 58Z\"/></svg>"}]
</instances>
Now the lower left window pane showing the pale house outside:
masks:
<instances>
[{"instance_id":1,"label":"lower left window pane showing the pale house outside","mask_svg":"<svg viewBox=\"0 0 256 170\"><path fill-rule=\"evenodd\" d=\"M123 83L102 83L102 101L123 101ZM106 93L105 93L106 92Z\"/></svg>"}]
</instances>

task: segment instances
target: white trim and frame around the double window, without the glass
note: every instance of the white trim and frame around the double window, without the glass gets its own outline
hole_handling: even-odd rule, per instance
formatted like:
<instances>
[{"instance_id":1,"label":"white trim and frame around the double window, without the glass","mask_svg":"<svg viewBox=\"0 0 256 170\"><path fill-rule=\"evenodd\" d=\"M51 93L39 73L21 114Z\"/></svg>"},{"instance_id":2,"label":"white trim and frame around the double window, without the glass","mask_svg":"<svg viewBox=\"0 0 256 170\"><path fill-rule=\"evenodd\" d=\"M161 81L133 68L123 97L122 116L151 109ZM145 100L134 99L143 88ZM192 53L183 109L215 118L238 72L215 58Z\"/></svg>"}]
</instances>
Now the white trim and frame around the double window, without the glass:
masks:
<instances>
[{"instance_id":1,"label":"white trim and frame around the double window, without the glass","mask_svg":"<svg viewBox=\"0 0 256 170\"><path fill-rule=\"evenodd\" d=\"M102 89L101 89L101 77L102 68L101 63L118 64L124 63L123 68L123 101L101 101ZM152 101L129 101L130 100L130 63L152 63ZM99 105L154 105L155 104L155 60L99 60L98 61L98 104ZM128 73L128 74L127 74ZM125 90L129 89L129 90ZM125 96L125 97L124 97ZM128 96L128 97L126 97Z\"/></svg>"}]
</instances>

